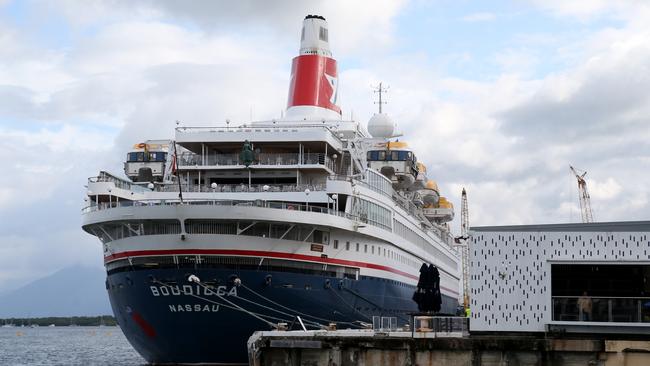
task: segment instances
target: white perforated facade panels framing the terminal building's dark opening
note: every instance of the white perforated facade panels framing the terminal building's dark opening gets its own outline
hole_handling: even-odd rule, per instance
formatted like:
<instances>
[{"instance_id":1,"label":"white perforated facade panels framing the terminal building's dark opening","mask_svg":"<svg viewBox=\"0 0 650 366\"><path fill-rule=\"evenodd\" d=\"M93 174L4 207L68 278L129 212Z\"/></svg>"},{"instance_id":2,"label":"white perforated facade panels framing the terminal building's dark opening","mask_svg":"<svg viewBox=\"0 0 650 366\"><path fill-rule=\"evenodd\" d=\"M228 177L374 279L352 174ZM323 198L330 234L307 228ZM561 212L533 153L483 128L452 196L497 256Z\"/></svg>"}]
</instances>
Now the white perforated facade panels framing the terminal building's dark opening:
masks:
<instances>
[{"instance_id":1,"label":"white perforated facade panels framing the terminal building's dark opening","mask_svg":"<svg viewBox=\"0 0 650 366\"><path fill-rule=\"evenodd\" d=\"M650 222L475 227L471 331L543 332L552 264L650 263Z\"/></svg>"}]
</instances>

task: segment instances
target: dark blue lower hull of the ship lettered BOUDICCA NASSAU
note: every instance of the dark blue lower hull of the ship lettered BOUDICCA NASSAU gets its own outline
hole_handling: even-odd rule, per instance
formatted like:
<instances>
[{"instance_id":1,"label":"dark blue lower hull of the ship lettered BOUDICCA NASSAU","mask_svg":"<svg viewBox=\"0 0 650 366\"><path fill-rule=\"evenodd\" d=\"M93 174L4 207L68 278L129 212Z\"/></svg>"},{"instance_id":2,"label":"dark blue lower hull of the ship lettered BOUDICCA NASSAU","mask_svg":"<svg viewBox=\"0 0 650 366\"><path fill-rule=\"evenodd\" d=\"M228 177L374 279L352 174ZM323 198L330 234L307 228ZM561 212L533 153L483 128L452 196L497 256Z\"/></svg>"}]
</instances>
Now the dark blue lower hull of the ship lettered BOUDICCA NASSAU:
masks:
<instances>
[{"instance_id":1,"label":"dark blue lower hull of the ship lettered BOUDICCA NASSAU","mask_svg":"<svg viewBox=\"0 0 650 366\"><path fill-rule=\"evenodd\" d=\"M209 288L188 282L191 274ZM272 329L256 314L291 323L303 313L307 321L336 322L342 329L371 322L373 315L397 317L402 326L417 310L414 287L401 282L250 268L122 268L109 273L107 289L124 334L151 363L246 363L251 334ZM443 312L454 313L457 305L443 296Z\"/></svg>"}]
</instances>

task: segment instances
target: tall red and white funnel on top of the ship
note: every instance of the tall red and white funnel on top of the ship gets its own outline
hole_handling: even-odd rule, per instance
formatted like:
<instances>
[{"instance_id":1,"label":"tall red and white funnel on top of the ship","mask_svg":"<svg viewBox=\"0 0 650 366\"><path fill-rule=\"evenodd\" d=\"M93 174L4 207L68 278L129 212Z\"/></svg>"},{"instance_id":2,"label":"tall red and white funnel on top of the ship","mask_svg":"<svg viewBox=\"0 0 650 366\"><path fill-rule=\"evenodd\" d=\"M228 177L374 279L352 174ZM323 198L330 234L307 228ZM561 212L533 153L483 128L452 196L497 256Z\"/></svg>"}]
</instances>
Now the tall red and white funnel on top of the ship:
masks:
<instances>
[{"instance_id":1,"label":"tall red and white funnel on top of the ship","mask_svg":"<svg viewBox=\"0 0 650 366\"><path fill-rule=\"evenodd\" d=\"M287 117L340 120L338 86L327 21L320 15L307 15L302 23L300 54L291 65Z\"/></svg>"}]
</instances>

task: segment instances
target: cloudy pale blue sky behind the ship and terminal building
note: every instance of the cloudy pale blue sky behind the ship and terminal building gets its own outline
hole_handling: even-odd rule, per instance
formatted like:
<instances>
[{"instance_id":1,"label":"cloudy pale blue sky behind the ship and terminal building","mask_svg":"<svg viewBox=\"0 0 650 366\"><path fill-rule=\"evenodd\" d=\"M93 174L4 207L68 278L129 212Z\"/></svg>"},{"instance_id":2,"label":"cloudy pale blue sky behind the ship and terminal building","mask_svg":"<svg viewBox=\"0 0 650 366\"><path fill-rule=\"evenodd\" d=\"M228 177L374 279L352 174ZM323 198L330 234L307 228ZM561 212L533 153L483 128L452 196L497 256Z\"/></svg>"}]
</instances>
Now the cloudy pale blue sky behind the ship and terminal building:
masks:
<instances>
[{"instance_id":1,"label":"cloudy pale blue sky behind the ship and terminal building","mask_svg":"<svg viewBox=\"0 0 650 366\"><path fill-rule=\"evenodd\" d=\"M472 226L579 222L570 164L596 221L649 218L647 1L0 0L0 293L102 265L84 185L134 143L278 117L306 14L328 19L344 117L389 85Z\"/></svg>"}]
</instances>

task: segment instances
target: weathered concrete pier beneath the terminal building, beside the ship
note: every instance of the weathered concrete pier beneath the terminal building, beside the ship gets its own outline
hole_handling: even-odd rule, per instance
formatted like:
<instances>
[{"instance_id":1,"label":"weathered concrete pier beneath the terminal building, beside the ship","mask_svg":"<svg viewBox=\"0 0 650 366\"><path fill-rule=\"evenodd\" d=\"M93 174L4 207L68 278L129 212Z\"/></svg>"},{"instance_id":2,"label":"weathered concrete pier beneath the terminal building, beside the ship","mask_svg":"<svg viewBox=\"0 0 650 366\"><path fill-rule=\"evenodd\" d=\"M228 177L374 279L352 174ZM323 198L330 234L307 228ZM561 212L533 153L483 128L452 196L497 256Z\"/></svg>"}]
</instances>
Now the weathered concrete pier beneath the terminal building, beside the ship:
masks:
<instances>
[{"instance_id":1,"label":"weathered concrete pier beneath the terminal building, beside the ship","mask_svg":"<svg viewBox=\"0 0 650 366\"><path fill-rule=\"evenodd\" d=\"M502 366L650 364L650 341L378 332L373 330L256 332L251 366Z\"/></svg>"}]
</instances>

